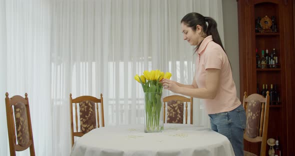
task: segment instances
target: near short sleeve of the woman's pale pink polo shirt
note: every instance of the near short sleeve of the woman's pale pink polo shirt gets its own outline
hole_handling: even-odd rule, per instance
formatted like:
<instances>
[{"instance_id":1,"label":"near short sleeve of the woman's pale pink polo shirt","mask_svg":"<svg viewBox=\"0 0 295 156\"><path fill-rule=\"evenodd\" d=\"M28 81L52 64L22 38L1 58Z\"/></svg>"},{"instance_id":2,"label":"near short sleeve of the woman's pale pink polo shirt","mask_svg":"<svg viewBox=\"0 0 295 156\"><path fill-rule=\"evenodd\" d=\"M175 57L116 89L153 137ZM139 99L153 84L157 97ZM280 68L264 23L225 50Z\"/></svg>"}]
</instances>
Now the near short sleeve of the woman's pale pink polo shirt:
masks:
<instances>
[{"instance_id":1,"label":"near short sleeve of the woman's pale pink polo shirt","mask_svg":"<svg viewBox=\"0 0 295 156\"><path fill-rule=\"evenodd\" d=\"M218 44L217 44L218 45ZM220 47L220 46L219 46ZM207 68L216 68L221 69L223 57L222 52L223 49L218 46L209 46L204 51L204 67Z\"/></svg>"}]
</instances>

